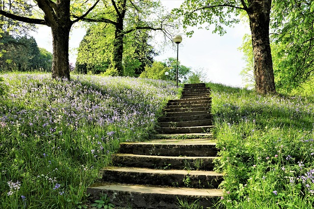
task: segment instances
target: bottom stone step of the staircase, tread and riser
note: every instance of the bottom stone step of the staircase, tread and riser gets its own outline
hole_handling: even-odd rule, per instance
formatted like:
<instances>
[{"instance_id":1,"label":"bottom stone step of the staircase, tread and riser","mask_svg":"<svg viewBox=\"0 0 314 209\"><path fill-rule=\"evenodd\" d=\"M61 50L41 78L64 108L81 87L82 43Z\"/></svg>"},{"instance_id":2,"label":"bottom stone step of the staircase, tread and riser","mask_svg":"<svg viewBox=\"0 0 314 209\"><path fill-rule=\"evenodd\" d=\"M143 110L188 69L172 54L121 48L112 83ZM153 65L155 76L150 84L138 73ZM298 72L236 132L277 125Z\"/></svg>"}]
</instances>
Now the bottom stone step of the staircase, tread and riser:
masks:
<instances>
[{"instance_id":1,"label":"bottom stone step of the staircase, tread and riser","mask_svg":"<svg viewBox=\"0 0 314 209\"><path fill-rule=\"evenodd\" d=\"M87 188L93 199L107 194L111 203L132 209L179 209L178 198L213 208L223 195L220 189L154 187L121 184L96 184Z\"/></svg>"}]
</instances>

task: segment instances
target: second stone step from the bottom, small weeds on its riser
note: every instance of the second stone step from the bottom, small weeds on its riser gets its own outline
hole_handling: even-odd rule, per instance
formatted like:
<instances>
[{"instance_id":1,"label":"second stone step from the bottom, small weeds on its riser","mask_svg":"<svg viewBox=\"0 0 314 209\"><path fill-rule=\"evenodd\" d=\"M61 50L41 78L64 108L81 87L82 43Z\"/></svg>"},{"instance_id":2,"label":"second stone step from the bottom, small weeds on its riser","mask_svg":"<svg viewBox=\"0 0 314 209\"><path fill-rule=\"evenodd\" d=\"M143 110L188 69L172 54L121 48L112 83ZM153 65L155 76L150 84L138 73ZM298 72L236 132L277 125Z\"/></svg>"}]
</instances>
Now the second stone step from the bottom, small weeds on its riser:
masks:
<instances>
[{"instance_id":1,"label":"second stone step from the bottom, small weeds on its riser","mask_svg":"<svg viewBox=\"0 0 314 209\"><path fill-rule=\"evenodd\" d=\"M100 176L104 182L111 183L190 188L217 188L223 179L221 173L213 171L138 167L106 167L100 171Z\"/></svg>"}]
</instances>

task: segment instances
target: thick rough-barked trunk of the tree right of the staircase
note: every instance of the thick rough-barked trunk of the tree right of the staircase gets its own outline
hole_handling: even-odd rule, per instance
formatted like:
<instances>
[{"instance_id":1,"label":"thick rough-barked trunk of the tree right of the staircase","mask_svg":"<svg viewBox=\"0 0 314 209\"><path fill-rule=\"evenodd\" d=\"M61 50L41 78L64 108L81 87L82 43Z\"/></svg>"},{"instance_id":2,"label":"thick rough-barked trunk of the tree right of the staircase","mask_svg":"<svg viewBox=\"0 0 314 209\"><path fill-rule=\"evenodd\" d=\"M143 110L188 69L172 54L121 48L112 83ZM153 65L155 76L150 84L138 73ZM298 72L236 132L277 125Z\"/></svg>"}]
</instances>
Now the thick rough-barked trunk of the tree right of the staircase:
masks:
<instances>
[{"instance_id":1,"label":"thick rough-barked trunk of the tree right of the staircase","mask_svg":"<svg viewBox=\"0 0 314 209\"><path fill-rule=\"evenodd\" d=\"M271 0L248 0L248 16L254 53L254 77L257 93L276 93L269 43Z\"/></svg>"}]
</instances>

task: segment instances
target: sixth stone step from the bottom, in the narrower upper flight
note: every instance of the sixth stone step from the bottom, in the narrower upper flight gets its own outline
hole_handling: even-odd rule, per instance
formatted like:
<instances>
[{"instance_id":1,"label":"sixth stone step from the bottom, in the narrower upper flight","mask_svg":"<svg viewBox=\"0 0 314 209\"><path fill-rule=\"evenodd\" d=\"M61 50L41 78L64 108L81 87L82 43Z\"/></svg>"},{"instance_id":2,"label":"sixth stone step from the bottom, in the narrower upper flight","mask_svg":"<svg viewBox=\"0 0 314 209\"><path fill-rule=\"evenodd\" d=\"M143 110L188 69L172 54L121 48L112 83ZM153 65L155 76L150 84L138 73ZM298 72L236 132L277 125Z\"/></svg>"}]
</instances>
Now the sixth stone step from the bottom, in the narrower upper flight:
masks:
<instances>
[{"instance_id":1,"label":"sixth stone step from the bottom, in the narrower upper flight","mask_svg":"<svg viewBox=\"0 0 314 209\"><path fill-rule=\"evenodd\" d=\"M193 127L159 127L160 134L188 134L188 133L208 133L214 126L193 126Z\"/></svg>"}]
</instances>

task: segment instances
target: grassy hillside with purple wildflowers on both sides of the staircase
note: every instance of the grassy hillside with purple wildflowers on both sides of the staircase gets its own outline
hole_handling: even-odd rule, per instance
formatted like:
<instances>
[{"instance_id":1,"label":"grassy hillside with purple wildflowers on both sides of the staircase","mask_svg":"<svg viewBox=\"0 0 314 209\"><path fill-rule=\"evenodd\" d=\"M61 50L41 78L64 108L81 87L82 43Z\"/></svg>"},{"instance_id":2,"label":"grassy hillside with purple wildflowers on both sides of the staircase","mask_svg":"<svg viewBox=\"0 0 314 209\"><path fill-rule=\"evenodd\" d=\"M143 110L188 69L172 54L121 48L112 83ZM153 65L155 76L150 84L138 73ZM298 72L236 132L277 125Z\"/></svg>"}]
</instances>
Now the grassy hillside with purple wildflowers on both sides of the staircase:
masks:
<instances>
[{"instance_id":1,"label":"grassy hillside with purple wildflowers on both sides of the staircase","mask_svg":"<svg viewBox=\"0 0 314 209\"><path fill-rule=\"evenodd\" d=\"M86 187L119 142L148 139L166 100L178 97L171 83L149 79L2 77L9 90L0 98L1 209L84 208ZM216 169L225 174L217 208L312 209L311 88L305 96L261 96L208 86Z\"/></svg>"}]
</instances>

